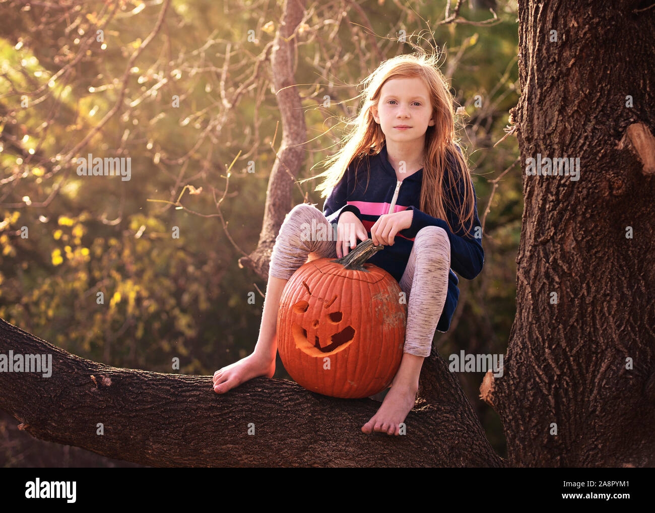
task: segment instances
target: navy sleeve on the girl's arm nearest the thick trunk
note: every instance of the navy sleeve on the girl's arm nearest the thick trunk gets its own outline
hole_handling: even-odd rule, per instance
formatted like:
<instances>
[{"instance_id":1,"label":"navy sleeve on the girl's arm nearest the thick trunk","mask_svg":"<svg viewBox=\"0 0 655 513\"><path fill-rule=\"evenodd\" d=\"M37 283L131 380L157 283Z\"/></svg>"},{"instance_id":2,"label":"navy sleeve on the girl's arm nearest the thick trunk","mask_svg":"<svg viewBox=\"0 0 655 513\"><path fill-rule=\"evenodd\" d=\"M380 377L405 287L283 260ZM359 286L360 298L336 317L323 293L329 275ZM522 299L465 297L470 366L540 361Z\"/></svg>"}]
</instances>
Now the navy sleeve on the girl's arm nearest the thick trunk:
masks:
<instances>
[{"instance_id":1,"label":"navy sleeve on the girl's arm nearest the thick trunk","mask_svg":"<svg viewBox=\"0 0 655 513\"><path fill-rule=\"evenodd\" d=\"M461 176L461 175L460 175ZM473 183L471 182L471 185ZM453 203L456 208L460 208L462 203L462 198L464 194L464 182L463 180L458 180L458 193L453 198ZM411 226L402 231L402 235L405 237L413 238L416 237L417 233L422 227L425 226L438 226L443 228L448 234L448 238L451 242L451 269L455 271L458 275L466 278L467 280L472 280L482 271L482 266L485 262L485 252L482 249L482 228L480 220L477 218L477 201L476 201L476 188L473 187L473 201L474 201L474 211L473 219L469 223L470 231L469 235L464 237L466 233L466 227L458 225L457 214L454 210L450 208L446 209L446 215L452 226L457 226L458 230L453 233L448 227L448 223L443 219L433 218L429 214L422 212L415 206L410 206L413 210ZM476 229L479 227L479 229ZM479 235L479 238L475 238L475 235Z\"/></svg>"}]
</instances>

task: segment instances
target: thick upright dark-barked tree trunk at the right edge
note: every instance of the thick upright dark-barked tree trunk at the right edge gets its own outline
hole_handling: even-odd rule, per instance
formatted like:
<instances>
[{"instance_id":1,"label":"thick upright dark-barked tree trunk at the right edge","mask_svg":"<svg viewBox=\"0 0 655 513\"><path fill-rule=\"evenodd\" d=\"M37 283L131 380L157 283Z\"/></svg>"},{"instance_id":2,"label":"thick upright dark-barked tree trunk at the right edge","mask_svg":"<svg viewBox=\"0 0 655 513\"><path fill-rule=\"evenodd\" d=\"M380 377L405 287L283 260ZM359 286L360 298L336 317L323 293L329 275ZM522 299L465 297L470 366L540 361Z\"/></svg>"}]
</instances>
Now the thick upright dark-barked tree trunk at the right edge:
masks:
<instances>
[{"instance_id":1,"label":"thick upright dark-barked tree trunk at the right edge","mask_svg":"<svg viewBox=\"0 0 655 513\"><path fill-rule=\"evenodd\" d=\"M521 161L579 157L580 180L523 174L517 313L481 387L515 465L655 465L651 3L519 1Z\"/></svg>"}]
</instances>

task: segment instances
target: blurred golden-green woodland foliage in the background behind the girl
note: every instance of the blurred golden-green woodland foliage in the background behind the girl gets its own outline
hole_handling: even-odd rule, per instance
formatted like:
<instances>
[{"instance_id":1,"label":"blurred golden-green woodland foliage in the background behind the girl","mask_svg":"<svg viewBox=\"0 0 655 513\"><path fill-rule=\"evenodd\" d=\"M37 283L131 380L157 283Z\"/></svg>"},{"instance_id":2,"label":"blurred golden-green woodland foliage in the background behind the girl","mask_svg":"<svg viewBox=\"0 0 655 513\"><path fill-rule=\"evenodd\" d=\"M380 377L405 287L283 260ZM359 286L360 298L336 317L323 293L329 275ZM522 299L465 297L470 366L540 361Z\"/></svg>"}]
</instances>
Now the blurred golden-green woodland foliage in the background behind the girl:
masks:
<instances>
[{"instance_id":1,"label":"blurred golden-green woodland foliage in the background behind the girl","mask_svg":"<svg viewBox=\"0 0 655 513\"><path fill-rule=\"evenodd\" d=\"M450 4L311 3L294 56L303 179L336 151L356 83L411 52L406 41L443 52L485 248L436 335L446 360L505 352L523 208L516 140L494 146L520 94L516 3ZM269 58L281 12L247 0L0 2L0 317L117 367L208 375L252 351L265 281L237 261L257 244L280 143ZM77 176L88 153L130 157L131 179ZM315 183L296 184L288 208L322 208ZM276 377L288 377L279 360ZM482 375L458 377L504 456L498 417L477 398ZM2 465L122 464L1 419Z\"/></svg>"}]
</instances>

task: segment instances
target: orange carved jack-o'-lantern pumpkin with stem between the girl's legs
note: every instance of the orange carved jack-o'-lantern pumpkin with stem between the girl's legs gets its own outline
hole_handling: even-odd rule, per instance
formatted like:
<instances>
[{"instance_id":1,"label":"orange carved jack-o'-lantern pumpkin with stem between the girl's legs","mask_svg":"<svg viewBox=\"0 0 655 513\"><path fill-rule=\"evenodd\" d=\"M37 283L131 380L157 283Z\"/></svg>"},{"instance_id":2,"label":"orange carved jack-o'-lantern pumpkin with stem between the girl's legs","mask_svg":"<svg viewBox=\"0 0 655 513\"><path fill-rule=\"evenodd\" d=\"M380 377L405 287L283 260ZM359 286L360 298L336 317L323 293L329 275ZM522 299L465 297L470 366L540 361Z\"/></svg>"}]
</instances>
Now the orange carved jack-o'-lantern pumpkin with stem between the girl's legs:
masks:
<instances>
[{"instance_id":1,"label":"orange carved jack-o'-lantern pumpkin with stem between the girl's legs","mask_svg":"<svg viewBox=\"0 0 655 513\"><path fill-rule=\"evenodd\" d=\"M308 259L284 287L278 351L305 389L364 398L386 389L396 375L407 305L394 277L365 263L383 247L367 239L340 259Z\"/></svg>"}]
</instances>

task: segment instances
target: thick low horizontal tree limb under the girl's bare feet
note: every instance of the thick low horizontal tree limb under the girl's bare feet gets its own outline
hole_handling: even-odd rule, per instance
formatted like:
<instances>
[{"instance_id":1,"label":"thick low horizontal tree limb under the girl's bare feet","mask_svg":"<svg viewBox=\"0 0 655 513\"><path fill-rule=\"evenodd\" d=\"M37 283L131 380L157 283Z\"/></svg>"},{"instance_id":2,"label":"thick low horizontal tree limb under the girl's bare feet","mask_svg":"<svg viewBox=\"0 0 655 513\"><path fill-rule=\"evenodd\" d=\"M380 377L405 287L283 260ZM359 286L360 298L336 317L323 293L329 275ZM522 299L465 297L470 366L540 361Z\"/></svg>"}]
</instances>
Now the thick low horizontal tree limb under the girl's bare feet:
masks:
<instances>
[{"instance_id":1,"label":"thick low horizontal tree limb under the girl's bare feet","mask_svg":"<svg viewBox=\"0 0 655 513\"><path fill-rule=\"evenodd\" d=\"M52 354L52 376L0 373L0 409L35 438L153 466L502 466L441 358L424 364L407 434L364 434L379 402L258 378L227 394L211 376L84 360L0 320L0 354ZM98 423L104 434L97 434ZM249 434L253 431L253 434Z\"/></svg>"}]
</instances>

